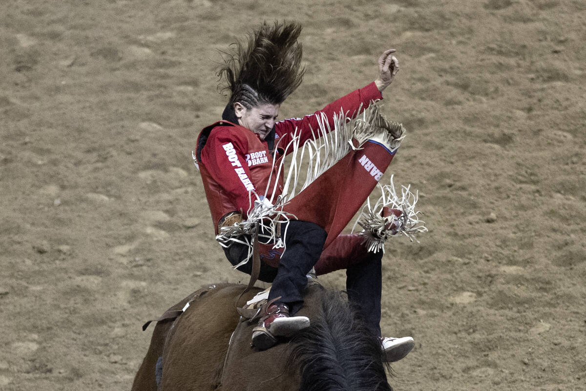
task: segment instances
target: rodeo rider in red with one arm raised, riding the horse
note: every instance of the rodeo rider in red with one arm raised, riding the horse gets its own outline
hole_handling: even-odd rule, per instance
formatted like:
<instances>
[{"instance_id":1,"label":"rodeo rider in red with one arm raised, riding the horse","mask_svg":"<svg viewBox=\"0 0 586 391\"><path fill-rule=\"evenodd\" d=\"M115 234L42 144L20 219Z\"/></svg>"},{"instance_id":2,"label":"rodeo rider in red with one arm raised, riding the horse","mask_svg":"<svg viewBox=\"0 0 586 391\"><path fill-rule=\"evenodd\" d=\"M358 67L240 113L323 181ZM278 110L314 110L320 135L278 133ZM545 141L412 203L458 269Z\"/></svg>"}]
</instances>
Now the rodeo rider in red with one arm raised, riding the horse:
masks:
<instances>
[{"instance_id":1,"label":"rodeo rider in red with one arm raised, riding the horse","mask_svg":"<svg viewBox=\"0 0 586 391\"><path fill-rule=\"evenodd\" d=\"M349 118L355 117L373 101L383 98L381 93L398 72L398 60L393 55L396 50L386 50L379 58L379 76L372 83L328 104L314 115L278 121L281 103L297 89L304 76L301 44L297 42L300 33L301 25L297 23L274 26L263 23L248 36L247 42L235 44L236 55L226 59L219 72L227 82L230 101L222 120L200 133L194 156L216 234L221 234L223 227L246 222L251 200L256 198L257 204L267 203L270 207L267 199L274 200L282 193L282 173L274 162L281 161L290 152L285 148L289 142L295 138L300 144L314 140L320 118L326 118L328 128L334 128L336 114L342 112ZM292 316L302 307L307 274L312 268L316 274L345 268L349 300L359 305L367 327L380 336L387 361L397 361L411 351L413 338L381 336L382 251L367 251L359 236L339 235L389 165L394 151L385 140L394 138L385 130L383 136L373 137L367 143L363 150L369 151L369 155L360 155L360 159L356 157L349 163L353 167L362 164L362 168L350 170L357 174L349 179L350 183L343 183L344 189L335 183L335 174L324 174L319 178L321 182L316 181L312 189L292 199L295 213L291 215L302 217L282 224L285 250L270 246L261 250L258 279L272 283L272 287L268 296L270 305L253 331L253 345L267 349L277 342L277 337L291 336L308 327L308 318ZM348 174L347 169L339 170L340 175ZM338 187L326 189L324 181ZM322 197L326 193L330 198L338 197L335 202L350 202L352 206L331 208L327 197ZM342 209L342 214L349 215L347 219L338 216ZM396 216L400 215L399 210L385 208L382 216L388 222L385 229L397 229ZM224 247L224 252L233 266L251 274L251 262L247 261L250 248L244 242L234 242Z\"/></svg>"}]
</instances>

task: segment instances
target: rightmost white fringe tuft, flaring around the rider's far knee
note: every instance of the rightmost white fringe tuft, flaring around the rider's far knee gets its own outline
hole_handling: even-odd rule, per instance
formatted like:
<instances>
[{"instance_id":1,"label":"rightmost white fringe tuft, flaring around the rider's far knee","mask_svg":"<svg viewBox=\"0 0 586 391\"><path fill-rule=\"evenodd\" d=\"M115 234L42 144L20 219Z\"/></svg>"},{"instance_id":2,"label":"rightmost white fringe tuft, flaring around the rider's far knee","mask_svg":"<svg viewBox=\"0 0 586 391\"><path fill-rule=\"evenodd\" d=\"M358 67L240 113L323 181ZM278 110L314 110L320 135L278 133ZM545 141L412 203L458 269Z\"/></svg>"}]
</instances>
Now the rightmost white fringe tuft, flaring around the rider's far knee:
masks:
<instances>
[{"instance_id":1,"label":"rightmost white fringe tuft, flaring around the rider's far knee","mask_svg":"<svg viewBox=\"0 0 586 391\"><path fill-rule=\"evenodd\" d=\"M397 194L393 183L393 175L391 175L391 181L389 185L380 185L382 195L377 202L372 206L370 199L367 200L366 205L362 208L356 223L352 227L354 232L356 225L363 228L362 232L358 234L364 238L363 243L369 251L384 252L384 242L392 236L407 236L411 242L419 243L419 240L415 238L415 233L427 232L425 222L419 219L421 212L415 212L415 204L417 204L418 193L415 194L410 191L411 185L401 186L401 195ZM387 220L381 216L383 208L387 206L391 209L398 209L403 211L403 214L396 218L397 224L396 229L386 229Z\"/></svg>"}]
</instances>

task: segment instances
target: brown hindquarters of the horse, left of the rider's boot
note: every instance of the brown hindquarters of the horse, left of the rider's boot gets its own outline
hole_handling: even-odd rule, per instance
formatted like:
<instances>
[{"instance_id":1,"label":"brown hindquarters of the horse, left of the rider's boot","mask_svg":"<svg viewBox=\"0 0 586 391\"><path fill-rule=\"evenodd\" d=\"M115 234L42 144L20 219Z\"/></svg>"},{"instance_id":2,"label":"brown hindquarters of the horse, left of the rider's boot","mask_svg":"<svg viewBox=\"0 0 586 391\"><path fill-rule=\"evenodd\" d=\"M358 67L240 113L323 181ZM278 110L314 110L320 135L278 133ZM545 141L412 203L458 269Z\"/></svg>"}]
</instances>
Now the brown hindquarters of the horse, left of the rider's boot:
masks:
<instances>
[{"instance_id":1,"label":"brown hindquarters of the horse, left of the rider's boot","mask_svg":"<svg viewBox=\"0 0 586 391\"><path fill-rule=\"evenodd\" d=\"M244 290L244 285L205 285L202 290L205 293L199 297L193 299L194 294L189 295L169 309L181 310L189 301L189 308L180 317L156 324L151 346L134 379L132 391L157 390L156 362L161 357L161 385L165 391L215 387L230 336L239 322L235 299ZM240 302L250 299L258 291L254 288L243 295Z\"/></svg>"}]
</instances>

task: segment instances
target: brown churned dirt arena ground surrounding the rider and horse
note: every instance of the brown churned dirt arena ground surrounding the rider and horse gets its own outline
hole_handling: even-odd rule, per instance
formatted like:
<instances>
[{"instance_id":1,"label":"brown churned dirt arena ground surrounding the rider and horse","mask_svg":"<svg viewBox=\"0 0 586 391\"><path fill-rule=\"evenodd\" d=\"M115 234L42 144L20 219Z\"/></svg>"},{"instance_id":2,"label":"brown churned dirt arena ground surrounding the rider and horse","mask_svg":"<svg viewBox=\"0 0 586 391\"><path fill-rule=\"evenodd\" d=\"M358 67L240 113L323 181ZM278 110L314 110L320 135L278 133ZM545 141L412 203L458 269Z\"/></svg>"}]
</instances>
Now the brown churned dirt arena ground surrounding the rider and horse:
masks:
<instances>
[{"instance_id":1,"label":"brown churned dirt arena ground surrounding the rider and horse","mask_svg":"<svg viewBox=\"0 0 586 391\"><path fill-rule=\"evenodd\" d=\"M281 118L398 50L382 182L420 191L430 232L387 243L383 331L417 342L391 385L586 390L582 0L2 1L0 389L128 390L146 319L244 281L191 151L226 102L218 50L276 19L308 69Z\"/></svg>"}]
</instances>

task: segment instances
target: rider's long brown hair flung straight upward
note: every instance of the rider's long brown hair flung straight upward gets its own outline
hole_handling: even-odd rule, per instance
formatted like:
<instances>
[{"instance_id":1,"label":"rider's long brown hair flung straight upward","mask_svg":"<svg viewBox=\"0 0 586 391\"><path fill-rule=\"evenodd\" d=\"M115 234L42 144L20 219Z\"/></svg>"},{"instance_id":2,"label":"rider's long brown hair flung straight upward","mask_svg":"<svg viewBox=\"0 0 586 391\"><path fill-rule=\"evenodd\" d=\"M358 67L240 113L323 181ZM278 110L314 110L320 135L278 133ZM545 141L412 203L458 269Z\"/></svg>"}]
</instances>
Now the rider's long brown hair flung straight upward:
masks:
<instances>
[{"instance_id":1,"label":"rider's long brown hair flung straight upward","mask_svg":"<svg viewBox=\"0 0 586 391\"><path fill-rule=\"evenodd\" d=\"M303 80L302 47L297 42L299 23L266 22L230 45L217 73L222 90L230 90L230 106L240 102L246 108L259 104L281 104Z\"/></svg>"}]
</instances>

